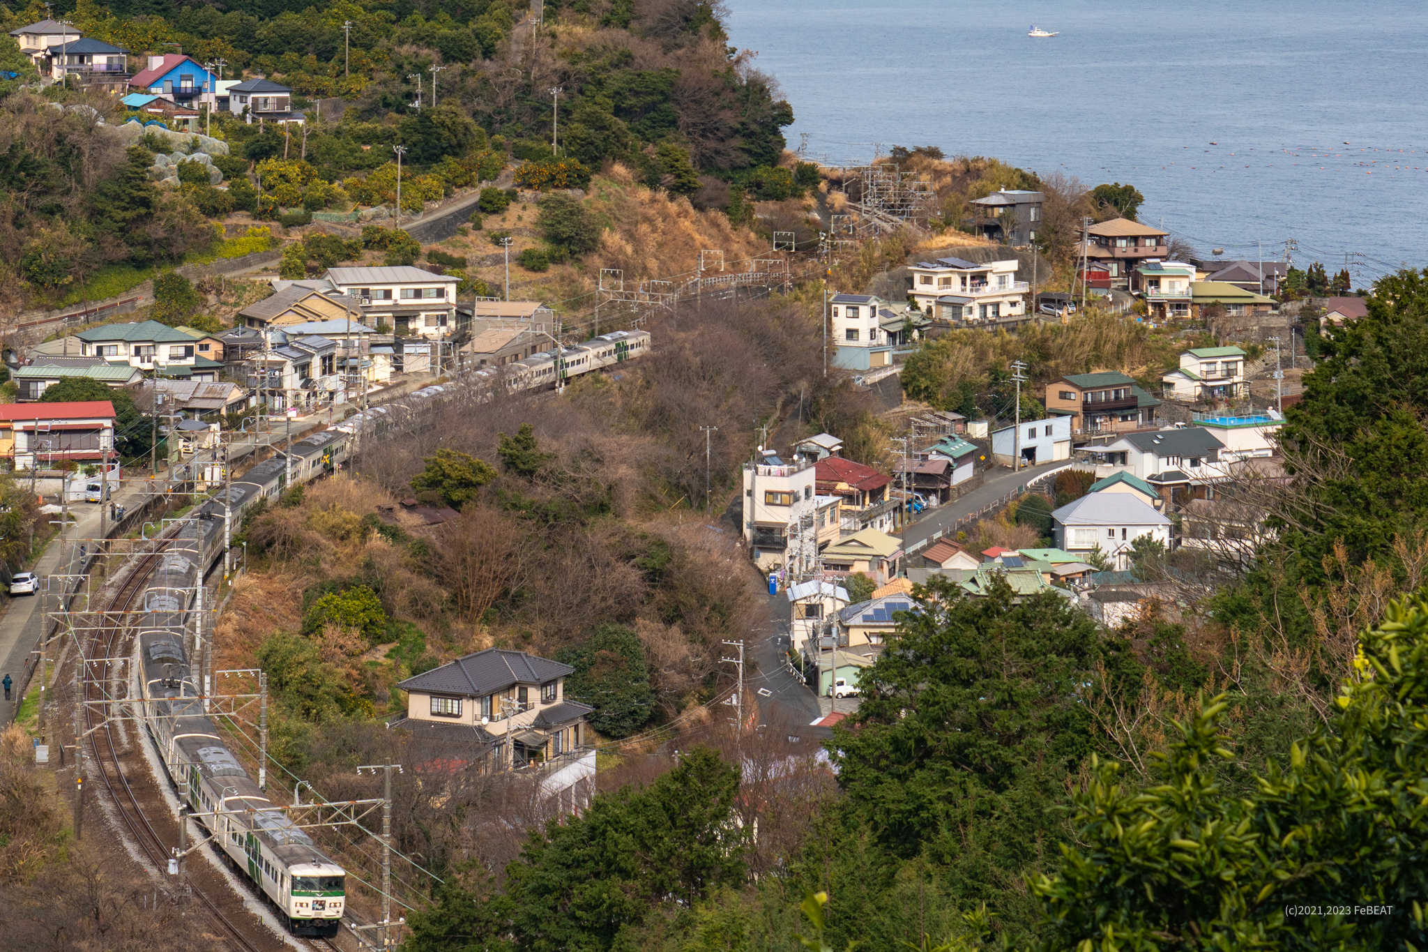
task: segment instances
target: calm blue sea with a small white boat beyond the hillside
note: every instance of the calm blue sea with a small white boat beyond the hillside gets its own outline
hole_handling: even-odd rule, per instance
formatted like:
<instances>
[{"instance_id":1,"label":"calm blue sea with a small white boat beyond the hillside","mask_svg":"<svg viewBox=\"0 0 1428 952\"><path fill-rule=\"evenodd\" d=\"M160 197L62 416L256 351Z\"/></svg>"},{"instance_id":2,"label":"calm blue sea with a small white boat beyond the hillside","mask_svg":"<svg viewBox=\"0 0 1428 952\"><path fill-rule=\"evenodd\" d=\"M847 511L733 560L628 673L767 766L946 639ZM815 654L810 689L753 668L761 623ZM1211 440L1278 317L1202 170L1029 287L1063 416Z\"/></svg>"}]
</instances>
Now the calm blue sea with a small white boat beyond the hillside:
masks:
<instances>
[{"instance_id":1,"label":"calm blue sea with a small white boat beyond the hillside","mask_svg":"<svg viewBox=\"0 0 1428 952\"><path fill-rule=\"evenodd\" d=\"M1225 260L1428 264L1428 3L727 0L791 148L938 146L1087 186ZM1031 39L1031 24L1057 30Z\"/></svg>"}]
</instances>

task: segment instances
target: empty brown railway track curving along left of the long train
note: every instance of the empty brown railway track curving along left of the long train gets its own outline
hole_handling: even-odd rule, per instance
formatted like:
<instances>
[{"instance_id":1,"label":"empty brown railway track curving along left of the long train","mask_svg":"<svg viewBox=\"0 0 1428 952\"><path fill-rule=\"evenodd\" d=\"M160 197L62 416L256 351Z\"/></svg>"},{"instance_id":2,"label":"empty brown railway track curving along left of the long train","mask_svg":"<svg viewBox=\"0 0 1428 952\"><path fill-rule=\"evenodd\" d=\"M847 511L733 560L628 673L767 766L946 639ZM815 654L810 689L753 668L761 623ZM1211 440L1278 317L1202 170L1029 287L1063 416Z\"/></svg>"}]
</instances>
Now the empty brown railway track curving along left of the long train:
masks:
<instances>
[{"instance_id":1,"label":"empty brown railway track curving along left of the long train","mask_svg":"<svg viewBox=\"0 0 1428 952\"><path fill-rule=\"evenodd\" d=\"M120 587L119 592L109 604L110 611L127 611L133 605L136 597L143 592L144 582L149 579L150 571L163 557L161 551L156 551L151 555L146 555L143 561L129 574L124 584ZM107 624L100 629L100 634L93 638L90 645L84 651L86 664L93 662L97 668L94 678L83 678L84 682L84 697L86 701L100 701L103 694L101 685L109 681L110 665L114 658L114 651L123 639L124 625L120 621ZM89 732L90 745L94 751L94 765L100 778L104 781L104 786L109 789L110 798L114 801L114 806L119 815L123 818L124 825L129 826L130 834L133 834L134 842L140 849L149 856L150 862L154 864L156 869L164 869L167 859L170 858L170 845L159 835L154 825L149 821L144 814L143 805L139 802L139 796L134 788L129 782L129 776L124 775L123 764L120 762L119 742L114 739L114 728L111 722L103 724L101 729L96 729L94 722L94 708L89 704L84 705L84 728ZM143 726L139 728L139 742L143 744ZM220 908L218 902L213 899L208 893L203 892L197 886L191 886L193 896L203 905L213 921L220 925L228 936L231 936L231 945L237 949L246 949L248 952L263 952L260 946L254 945L253 941L240 929ZM336 946L330 946L336 949Z\"/></svg>"}]
</instances>

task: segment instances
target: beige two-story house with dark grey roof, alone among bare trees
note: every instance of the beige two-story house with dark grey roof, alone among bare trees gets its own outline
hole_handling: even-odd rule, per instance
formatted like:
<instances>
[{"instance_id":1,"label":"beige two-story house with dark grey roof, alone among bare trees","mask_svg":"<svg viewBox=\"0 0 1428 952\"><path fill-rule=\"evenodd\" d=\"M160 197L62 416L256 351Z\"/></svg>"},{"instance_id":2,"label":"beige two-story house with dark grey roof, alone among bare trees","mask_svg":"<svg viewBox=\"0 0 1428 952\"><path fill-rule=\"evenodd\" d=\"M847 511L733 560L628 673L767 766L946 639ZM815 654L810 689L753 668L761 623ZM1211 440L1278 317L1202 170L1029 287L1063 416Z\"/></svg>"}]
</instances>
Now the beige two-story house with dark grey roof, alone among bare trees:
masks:
<instances>
[{"instance_id":1,"label":"beige two-story house with dark grey roof, alone among bare trees","mask_svg":"<svg viewBox=\"0 0 1428 952\"><path fill-rule=\"evenodd\" d=\"M406 716L391 724L447 769L536 769L548 796L594 795L595 751L585 718L594 709L565 697L575 669L524 651L487 648L397 684ZM444 751L443 751L444 748Z\"/></svg>"}]
</instances>

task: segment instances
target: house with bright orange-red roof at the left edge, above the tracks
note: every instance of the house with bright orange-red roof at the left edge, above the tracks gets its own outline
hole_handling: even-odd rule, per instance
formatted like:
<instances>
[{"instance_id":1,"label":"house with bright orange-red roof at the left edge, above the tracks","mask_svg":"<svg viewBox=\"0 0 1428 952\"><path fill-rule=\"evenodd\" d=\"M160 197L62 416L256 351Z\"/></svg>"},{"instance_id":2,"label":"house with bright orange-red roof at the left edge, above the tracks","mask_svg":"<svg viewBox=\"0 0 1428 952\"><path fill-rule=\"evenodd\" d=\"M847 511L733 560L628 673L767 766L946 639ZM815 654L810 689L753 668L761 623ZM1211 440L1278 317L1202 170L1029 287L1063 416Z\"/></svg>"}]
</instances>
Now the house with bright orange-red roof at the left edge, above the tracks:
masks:
<instances>
[{"instance_id":1,"label":"house with bright orange-red roof at the left edge, above the tracks","mask_svg":"<svg viewBox=\"0 0 1428 952\"><path fill-rule=\"evenodd\" d=\"M53 468L63 461L111 462L114 404L0 404L0 457L11 470Z\"/></svg>"}]
</instances>

